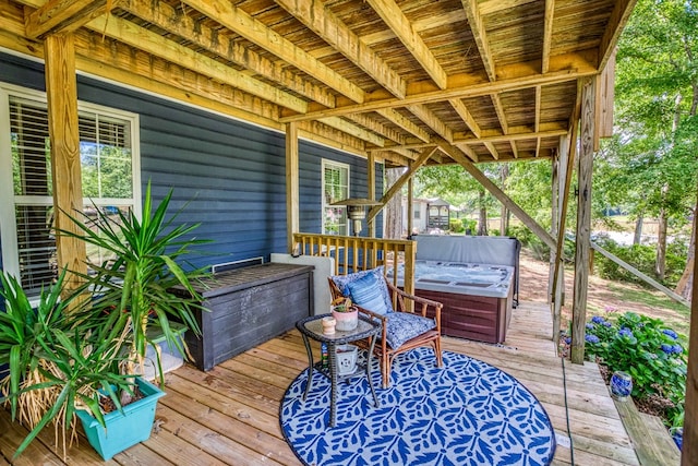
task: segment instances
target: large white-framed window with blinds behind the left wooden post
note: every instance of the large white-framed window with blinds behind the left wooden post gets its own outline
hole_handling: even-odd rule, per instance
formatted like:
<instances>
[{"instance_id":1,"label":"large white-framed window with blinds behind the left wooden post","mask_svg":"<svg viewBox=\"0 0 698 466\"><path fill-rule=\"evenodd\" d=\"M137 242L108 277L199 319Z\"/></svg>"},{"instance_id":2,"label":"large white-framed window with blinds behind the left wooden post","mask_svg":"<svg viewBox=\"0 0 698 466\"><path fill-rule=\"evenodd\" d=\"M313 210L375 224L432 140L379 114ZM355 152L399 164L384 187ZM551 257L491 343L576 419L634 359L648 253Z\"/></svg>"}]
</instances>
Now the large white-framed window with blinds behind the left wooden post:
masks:
<instances>
[{"instance_id":1,"label":"large white-framed window with blinds behind the left wooden post","mask_svg":"<svg viewBox=\"0 0 698 466\"><path fill-rule=\"evenodd\" d=\"M0 104L0 192L12 200L0 207L2 266L27 295L38 296L58 274L47 105L39 93L3 85ZM135 115L79 104L87 216L95 214L95 206L140 213L137 128ZM88 249L87 254L92 263L109 259L98 250Z\"/></svg>"}]
</instances>

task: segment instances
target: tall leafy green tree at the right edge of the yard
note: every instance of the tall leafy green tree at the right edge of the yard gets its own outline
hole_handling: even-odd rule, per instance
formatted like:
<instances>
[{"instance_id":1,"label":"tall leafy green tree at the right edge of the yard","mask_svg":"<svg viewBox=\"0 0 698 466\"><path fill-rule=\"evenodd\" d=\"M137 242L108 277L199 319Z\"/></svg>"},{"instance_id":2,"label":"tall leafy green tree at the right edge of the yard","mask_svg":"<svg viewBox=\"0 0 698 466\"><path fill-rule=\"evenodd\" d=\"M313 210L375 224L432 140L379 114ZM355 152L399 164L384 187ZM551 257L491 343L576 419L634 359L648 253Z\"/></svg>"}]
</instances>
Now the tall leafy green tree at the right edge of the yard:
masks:
<instances>
[{"instance_id":1,"label":"tall leafy green tree at the right edge of the yard","mask_svg":"<svg viewBox=\"0 0 698 466\"><path fill-rule=\"evenodd\" d=\"M697 202L697 53L694 0L638 1L618 45L616 135L604 147L605 164L595 166L594 195L616 199L638 222L660 218L660 277L666 229L685 224Z\"/></svg>"}]
</instances>

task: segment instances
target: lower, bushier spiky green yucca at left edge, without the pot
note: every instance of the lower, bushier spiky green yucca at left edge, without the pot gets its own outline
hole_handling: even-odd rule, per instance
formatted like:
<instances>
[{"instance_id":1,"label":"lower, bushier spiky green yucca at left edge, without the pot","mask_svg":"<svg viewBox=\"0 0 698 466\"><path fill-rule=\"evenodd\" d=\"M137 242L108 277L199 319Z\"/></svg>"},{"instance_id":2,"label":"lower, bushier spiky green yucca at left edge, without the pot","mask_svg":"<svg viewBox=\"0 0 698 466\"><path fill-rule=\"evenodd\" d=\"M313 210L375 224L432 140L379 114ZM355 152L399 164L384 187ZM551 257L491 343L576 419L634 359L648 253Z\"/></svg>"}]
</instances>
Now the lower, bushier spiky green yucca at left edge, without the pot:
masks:
<instances>
[{"instance_id":1,"label":"lower, bushier spiky green yucca at left edge, without the pot","mask_svg":"<svg viewBox=\"0 0 698 466\"><path fill-rule=\"evenodd\" d=\"M0 381L0 393L9 402L12 419L29 426L29 433L17 447L19 456L49 422L59 429L74 428L77 406L85 407L104 426L98 390L121 407L117 390L132 391L127 375L120 375L120 328L117 313L91 314L69 311L76 303L73 294L61 300L63 271L58 282L43 290L33 309L22 285L4 272L0 274L0 365L8 365L9 377ZM63 435L64 438L64 435Z\"/></svg>"}]
</instances>

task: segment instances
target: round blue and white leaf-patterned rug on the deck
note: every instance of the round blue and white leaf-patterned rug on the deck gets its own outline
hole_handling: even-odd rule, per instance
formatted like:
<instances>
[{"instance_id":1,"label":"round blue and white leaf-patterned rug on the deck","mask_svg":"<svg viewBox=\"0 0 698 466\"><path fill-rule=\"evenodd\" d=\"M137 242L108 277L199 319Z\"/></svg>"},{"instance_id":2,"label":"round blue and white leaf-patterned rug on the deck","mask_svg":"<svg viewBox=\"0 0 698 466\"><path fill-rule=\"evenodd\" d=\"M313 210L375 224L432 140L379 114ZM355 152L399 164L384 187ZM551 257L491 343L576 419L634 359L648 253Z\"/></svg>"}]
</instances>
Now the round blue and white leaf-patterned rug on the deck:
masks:
<instances>
[{"instance_id":1,"label":"round blue and white leaf-patterned rug on the deck","mask_svg":"<svg viewBox=\"0 0 698 466\"><path fill-rule=\"evenodd\" d=\"M549 465L555 434L538 399L495 367L456 353L443 356L441 369L428 348L398 356L390 387L377 390L377 408L365 377L340 383L334 428L329 380L315 373L303 402L304 370L281 403L286 440L313 466Z\"/></svg>"}]
</instances>

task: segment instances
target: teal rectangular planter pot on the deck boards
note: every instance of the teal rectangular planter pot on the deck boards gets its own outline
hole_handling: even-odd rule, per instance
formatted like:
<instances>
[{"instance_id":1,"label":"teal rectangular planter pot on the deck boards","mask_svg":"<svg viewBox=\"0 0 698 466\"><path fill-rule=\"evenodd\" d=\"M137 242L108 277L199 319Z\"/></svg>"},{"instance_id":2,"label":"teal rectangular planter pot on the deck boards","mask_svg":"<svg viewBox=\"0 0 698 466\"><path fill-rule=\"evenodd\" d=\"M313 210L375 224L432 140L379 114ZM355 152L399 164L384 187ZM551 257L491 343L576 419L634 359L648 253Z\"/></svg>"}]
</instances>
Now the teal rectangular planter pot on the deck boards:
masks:
<instances>
[{"instance_id":1,"label":"teal rectangular planter pot on the deck boards","mask_svg":"<svg viewBox=\"0 0 698 466\"><path fill-rule=\"evenodd\" d=\"M145 397L123 407L123 413L105 416L107 429L86 410L77 410L89 444L105 461L151 437L157 401L165 395L157 386L139 378L136 384Z\"/></svg>"}]
</instances>

